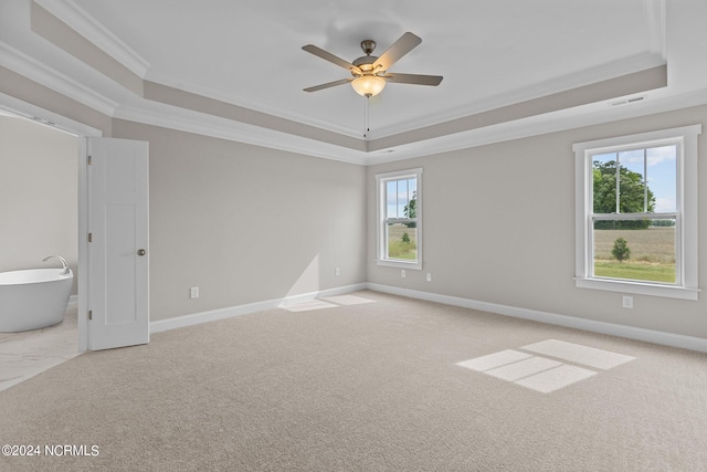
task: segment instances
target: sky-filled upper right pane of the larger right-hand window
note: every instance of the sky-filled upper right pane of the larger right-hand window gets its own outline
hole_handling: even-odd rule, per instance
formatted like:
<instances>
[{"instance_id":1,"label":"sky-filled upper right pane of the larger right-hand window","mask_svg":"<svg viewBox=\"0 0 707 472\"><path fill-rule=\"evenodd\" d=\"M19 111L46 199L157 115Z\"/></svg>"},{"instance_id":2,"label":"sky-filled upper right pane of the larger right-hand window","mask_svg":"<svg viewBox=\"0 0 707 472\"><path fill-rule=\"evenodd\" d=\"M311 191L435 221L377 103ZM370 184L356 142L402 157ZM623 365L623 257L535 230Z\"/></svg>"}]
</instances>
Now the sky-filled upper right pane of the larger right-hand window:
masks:
<instances>
[{"instance_id":1,"label":"sky-filled upper right pane of the larger right-hand window","mask_svg":"<svg viewBox=\"0 0 707 472\"><path fill-rule=\"evenodd\" d=\"M656 213L677 211L677 146L646 149L648 189L655 199Z\"/></svg>"}]
</instances>

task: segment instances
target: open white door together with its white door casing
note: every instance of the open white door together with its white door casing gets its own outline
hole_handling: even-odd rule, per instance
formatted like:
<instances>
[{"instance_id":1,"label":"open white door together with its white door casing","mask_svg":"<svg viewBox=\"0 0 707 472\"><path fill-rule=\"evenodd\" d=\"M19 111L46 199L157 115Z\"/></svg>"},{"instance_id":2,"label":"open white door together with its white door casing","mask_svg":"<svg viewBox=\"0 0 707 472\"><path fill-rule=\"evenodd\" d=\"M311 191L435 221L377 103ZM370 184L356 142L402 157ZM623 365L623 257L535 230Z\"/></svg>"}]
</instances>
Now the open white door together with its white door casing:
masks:
<instances>
[{"instance_id":1,"label":"open white door together with its white door casing","mask_svg":"<svg viewBox=\"0 0 707 472\"><path fill-rule=\"evenodd\" d=\"M74 223L77 230L73 233L77 247L77 350L148 343L148 143L104 138L101 129L2 93L0 109L59 128L76 138L76 171L71 186L76 191L74 208L77 207ZM88 156L88 151L93 156ZM89 221L94 222L91 232ZM126 228L134 232L128 233ZM130 268L135 271L129 271ZM94 304L91 311L89 297ZM106 300L110 303L104 303ZM133 313L122 310L131 306L130 300L136 302ZM89 318L95 321L91 332Z\"/></svg>"}]
</instances>

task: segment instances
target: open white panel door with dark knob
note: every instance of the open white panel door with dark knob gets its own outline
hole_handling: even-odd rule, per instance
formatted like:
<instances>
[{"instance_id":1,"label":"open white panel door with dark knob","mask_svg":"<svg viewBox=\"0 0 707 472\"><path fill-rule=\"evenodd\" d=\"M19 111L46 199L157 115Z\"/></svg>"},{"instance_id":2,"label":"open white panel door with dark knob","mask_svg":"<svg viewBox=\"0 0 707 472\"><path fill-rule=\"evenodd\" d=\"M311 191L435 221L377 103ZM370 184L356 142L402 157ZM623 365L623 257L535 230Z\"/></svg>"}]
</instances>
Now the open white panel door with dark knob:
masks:
<instances>
[{"instance_id":1,"label":"open white panel door with dark knob","mask_svg":"<svg viewBox=\"0 0 707 472\"><path fill-rule=\"evenodd\" d=\"M88 138L88 349L149 342L148 144Z\"/></svg>"}]
</instances>

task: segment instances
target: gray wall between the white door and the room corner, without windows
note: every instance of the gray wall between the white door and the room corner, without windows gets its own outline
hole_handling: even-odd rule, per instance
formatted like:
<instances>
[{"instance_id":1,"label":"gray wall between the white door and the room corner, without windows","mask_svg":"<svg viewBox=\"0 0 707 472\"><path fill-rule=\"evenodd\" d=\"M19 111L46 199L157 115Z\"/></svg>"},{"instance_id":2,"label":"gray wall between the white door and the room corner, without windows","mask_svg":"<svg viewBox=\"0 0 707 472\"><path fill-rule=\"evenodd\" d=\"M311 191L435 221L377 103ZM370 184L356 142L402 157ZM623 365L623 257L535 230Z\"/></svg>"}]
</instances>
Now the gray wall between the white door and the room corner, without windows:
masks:
<instances>
[{"instance_id":1,"label":"gray wall between the white door and the room corner, without windows","mask_svg":"<svg viewBox=\"0 0 707 472\"><path fill-rule=\"evenodd\" d=\"M363 167L123 120L113 136L149 141L151 321L366 281Z\"/></svg>"}]
</instances>

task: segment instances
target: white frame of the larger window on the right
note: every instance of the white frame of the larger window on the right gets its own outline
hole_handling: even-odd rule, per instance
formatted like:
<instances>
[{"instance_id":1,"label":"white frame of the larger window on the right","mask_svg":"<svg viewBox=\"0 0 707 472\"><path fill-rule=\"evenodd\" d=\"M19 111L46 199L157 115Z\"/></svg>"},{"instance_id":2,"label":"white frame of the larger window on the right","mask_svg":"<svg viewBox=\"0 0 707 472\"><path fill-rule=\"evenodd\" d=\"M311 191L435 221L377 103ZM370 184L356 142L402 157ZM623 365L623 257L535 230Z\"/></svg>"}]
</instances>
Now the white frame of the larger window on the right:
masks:
<instances>
[{"instance_id":1,"label":"white frame of the larger window on the right","mask_svg":"<svg viewBox=\"0 0 707 472\"><path fill-rule=\"evenodd\" d=\"M698 180L697 139L701 125L661 129L635 135L576 143L576 286L639 295L654 295L682 300L698 300ZM676 283L622 280L593 276L593 170L592 157L601 153L677 144L676 155ZM645 214L621 213L616 218L633 219ZM627 218L626 218L627 217Z\"/></svg>"}]
</instances>

